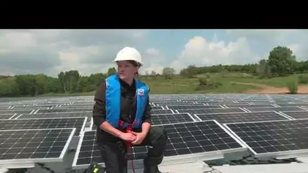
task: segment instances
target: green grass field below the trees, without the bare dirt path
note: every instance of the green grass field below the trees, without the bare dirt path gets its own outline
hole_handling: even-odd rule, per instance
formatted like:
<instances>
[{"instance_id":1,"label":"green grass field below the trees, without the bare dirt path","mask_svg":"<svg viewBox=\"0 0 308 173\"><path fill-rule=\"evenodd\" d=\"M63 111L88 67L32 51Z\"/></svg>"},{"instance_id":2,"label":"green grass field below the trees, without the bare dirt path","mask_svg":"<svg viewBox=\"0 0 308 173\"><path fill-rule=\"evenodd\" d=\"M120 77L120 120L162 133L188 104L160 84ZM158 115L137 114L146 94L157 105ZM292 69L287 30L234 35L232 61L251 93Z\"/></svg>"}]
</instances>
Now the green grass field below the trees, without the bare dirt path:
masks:
<instances>
[{"instance_id":1,"label":"green grass field below the trees, without the bare dirt path","mask_svg":"<svg viewBox=\"0 0 308 173\"><path fill-rule=\"evenodd\" d=\"M303 74L308 76L308 74ZM218 88L196 90L199 86L199 78L206 77L206 74L198 75L196 78L175 77L173 79L165 79L163 77L143 78L142 80L150 87L151 94L197 94L197 93L245 93L248 90L262 90L259 86L251 83L261 83L268 86L286 87L287 82L292 80L292 77L272 77L259 79L257 76L252 76L247 73L214 73L210 75L210 80L221 83ZM239 84L249 83L249 84ZM307 84L299 84L299 86ZM72 93L72 94L45 94L41 96L87 96L94 95L95 91L88 93Z\"/></svg>"}]
</instances>

